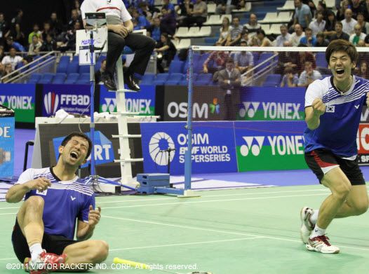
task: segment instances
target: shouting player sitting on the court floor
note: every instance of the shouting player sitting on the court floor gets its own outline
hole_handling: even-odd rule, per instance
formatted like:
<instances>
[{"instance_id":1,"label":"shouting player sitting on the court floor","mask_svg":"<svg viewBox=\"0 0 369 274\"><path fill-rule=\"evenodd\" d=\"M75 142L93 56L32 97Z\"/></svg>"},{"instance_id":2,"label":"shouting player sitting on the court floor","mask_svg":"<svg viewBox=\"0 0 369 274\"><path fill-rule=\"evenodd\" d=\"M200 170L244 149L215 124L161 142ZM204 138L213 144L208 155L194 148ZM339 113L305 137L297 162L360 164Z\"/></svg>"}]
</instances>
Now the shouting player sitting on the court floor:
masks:
<instances>
[{"instance_id":1,"label":"shouting player sitting on the court floor","mask_svg":"<svg viewBox=\"0 0 369 274\"><path fill-rule=\"evenodd\" d=\"M62 270L61 266L68 271L86 270L107 258L106 242L87 240L100 220L101 209L94 210L93 191L76 176L91 149L86 135L72 132L58 148L57 165L26 170L6 193L8 203L18 203L25 196L12 242L16 256L30 273Z\"/></svg>"}]
</instances>

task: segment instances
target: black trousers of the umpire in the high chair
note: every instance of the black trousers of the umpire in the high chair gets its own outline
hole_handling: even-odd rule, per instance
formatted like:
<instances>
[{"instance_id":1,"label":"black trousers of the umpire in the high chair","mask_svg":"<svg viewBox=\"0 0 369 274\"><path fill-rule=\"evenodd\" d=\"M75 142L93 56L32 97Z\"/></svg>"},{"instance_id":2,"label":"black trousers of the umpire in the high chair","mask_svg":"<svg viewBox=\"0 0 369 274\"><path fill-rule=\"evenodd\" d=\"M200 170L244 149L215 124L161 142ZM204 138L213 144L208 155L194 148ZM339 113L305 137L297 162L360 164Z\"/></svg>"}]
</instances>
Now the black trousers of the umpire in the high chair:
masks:
<instances>
[{"instance_id":1,"label":"black trousers of the umpire in the high chair","mask_svg":"<svg viewBox=\"0 0 369 274\"><path fill-rule=\"evenodd\" d=\"M128 46L135 52L135 57L128 67L128 73L144 75L155 43L153 39L142 34L130 33L123 38L115 32L108 32L107 72L114 75L116 61L121 56L124 46Z\"/></svg>"}]
</instances>

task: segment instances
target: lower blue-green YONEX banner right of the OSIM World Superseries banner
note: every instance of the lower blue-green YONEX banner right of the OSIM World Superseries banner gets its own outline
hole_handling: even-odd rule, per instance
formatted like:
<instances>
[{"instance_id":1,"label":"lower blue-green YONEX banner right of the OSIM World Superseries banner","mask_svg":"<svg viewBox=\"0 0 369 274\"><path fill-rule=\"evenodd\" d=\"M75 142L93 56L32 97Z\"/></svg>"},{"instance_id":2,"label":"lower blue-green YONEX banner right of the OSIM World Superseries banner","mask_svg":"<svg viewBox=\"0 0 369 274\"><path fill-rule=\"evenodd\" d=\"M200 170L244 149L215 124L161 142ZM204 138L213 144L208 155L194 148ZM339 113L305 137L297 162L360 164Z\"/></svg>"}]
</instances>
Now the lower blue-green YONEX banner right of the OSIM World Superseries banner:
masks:
<instances>
[{"instance_id":1,"label":"lower blue-green YONEX banner right of the OSIM World Superseries banner","mask_svg":"<svg viewBox=\"0 0 369 274\"><path fill-rule=\"evenodd\" d=\"M305 128L304 121L235 122L239 172L307 168Z\"/></svg>"}]
</instances>

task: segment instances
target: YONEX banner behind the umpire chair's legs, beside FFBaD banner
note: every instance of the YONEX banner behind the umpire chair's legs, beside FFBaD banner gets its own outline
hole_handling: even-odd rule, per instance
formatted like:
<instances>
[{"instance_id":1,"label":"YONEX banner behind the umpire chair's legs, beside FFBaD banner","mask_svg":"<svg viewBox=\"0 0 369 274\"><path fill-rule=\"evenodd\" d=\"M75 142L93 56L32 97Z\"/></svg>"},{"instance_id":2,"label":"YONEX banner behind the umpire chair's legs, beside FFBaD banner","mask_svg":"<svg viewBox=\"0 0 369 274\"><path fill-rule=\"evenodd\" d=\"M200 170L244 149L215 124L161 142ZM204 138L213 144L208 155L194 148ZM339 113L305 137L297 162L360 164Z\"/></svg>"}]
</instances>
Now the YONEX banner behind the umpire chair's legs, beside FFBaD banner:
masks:
<instances>
[{"instance_id":1,"label":"YONEX banner behind the umpire chair's legs, beside FFBaD banner","mask_svg":"<svg viewBox=\"0 0 369 274\"><path fill-rule=\"evenodd\" d=\"M140 92L126 93L126 110L140 115L155 115L155 85L140 85ZM100 112L116 111L115 93L100 85Z\"/></svg>"}]
</instances>

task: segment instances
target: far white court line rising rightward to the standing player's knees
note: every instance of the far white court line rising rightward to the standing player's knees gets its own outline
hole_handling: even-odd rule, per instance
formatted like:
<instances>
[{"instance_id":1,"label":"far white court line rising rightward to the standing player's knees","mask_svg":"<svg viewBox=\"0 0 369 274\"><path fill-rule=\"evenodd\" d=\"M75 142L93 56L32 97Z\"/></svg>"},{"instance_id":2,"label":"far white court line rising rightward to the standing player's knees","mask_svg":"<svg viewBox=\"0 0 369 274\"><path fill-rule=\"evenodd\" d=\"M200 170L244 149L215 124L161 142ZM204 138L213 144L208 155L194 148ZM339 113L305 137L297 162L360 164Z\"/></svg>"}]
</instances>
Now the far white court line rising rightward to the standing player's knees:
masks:
<instances>
[{"instance_id":1,"label":"far white court line rising rightward to the standing player's knees","mask_svg":"<svg viewBox=\"0 0 369 274\"><path fill-rule=\"evenodd\" d=\"M177 203L159 203L159 204L143 204L143 205L122 205L120 207L103 207L103 209L112 209L112 208L127 208L127 207L149 207L149 206L158 206L158 205L186 205L186 204L194 204L194 203L218 203L218 202L232 202L235 200L266 200L266 199L276 199L276 198L290 198L290 197L304 197L304 196L323 196L327 195L326 193L315 193L315 194L305 194L305 195L290 195L290 196L273 196L273 197L254 197L254 198L239 198L239 199L226 199L226 200L197 200L197 201L179 201Z\"/></svg>"}]
</instances>

